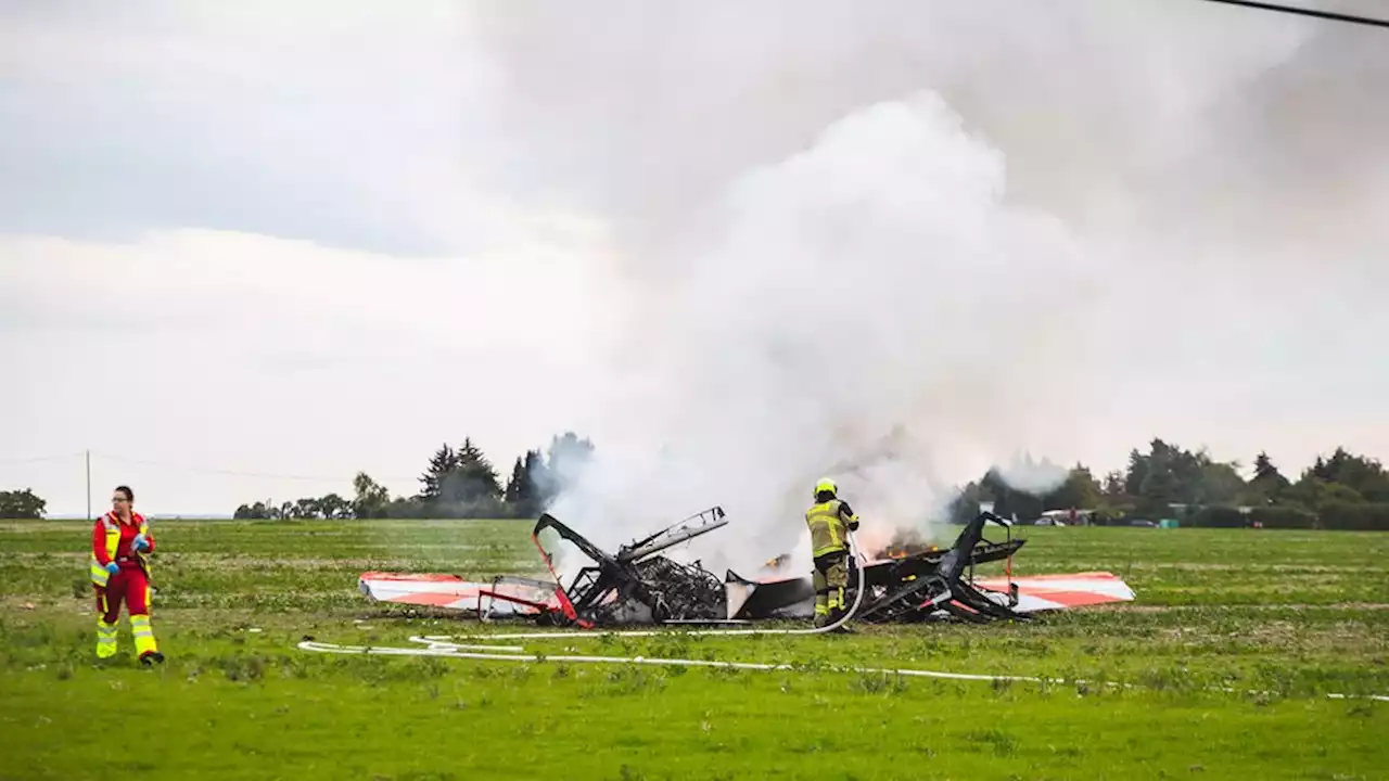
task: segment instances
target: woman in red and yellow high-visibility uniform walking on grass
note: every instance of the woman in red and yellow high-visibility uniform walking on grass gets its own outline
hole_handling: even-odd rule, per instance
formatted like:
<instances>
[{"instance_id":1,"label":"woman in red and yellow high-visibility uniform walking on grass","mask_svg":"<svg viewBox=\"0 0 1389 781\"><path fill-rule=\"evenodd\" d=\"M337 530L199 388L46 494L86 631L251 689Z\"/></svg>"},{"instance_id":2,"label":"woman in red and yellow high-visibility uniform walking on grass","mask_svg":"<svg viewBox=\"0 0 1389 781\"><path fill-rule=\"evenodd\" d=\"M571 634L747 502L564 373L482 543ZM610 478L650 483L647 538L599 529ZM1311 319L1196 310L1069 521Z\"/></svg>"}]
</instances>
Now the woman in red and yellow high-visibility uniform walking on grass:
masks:
<instances>
[{"instance_id":1,"label":"woman in red and yellow high-visibility uniform walking on grass","mask_svg":"<svg viewBox=\"0 0 1389 781\"><path fill-rule=\"evenodd\" d=\"M164 661L150 628L150 564L154 535L143 516L132 509L135 492L128 485L111 493L111 511L92 527L92 585L96 589L96 656L115 656L115 623L121 602L131 614L131 634L140 664Z\"/></svg>"}]
</instances>

